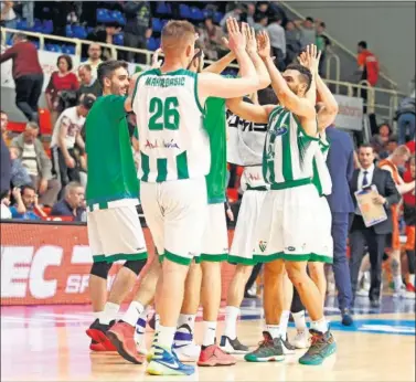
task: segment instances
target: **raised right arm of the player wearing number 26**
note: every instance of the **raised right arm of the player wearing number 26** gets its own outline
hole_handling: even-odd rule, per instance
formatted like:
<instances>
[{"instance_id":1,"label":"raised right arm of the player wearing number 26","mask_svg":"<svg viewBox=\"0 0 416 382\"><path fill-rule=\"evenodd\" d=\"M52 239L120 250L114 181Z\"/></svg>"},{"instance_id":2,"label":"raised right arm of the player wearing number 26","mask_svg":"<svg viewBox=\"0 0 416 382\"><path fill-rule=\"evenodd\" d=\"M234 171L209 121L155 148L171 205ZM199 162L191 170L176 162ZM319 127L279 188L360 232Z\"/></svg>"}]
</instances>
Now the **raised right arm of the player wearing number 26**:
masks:
<instances>
[{"instance_id":1,"label":"raised right arm of the player wearing number 26","mask_svg":"<svg viewBox=\"0 0 416 382\"><path fill-rule=\"evenodd\" d=\"M198 82L198 93L201 98L210 96L235 98L256 92L260 88L255 66L246 52L246 24L239 30L235 19L227 20L230 32L230 49L234 52L239 64L239 78L224 78L213 73L201 73Z\"/></svg>"}]
</instances>

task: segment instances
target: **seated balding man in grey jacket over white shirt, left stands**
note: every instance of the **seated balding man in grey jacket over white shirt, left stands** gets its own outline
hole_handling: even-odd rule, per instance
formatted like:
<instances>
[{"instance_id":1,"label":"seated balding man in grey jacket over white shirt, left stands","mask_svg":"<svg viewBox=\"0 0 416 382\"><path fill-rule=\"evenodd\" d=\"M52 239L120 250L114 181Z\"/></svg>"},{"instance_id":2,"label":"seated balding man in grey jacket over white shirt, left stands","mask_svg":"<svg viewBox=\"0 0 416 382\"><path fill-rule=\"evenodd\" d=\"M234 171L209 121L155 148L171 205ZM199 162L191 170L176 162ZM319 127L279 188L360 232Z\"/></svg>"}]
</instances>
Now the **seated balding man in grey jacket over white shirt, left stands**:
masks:
<instances>
[{"instance_id":1,"label":"seated balding man in grey jacket over white shirt, left stands","mask_svg":"<svg viewBox=\"0 0 416 382\"><path fill-rule=\"evenodd\" d=\"M61 183L52 177L52 162L47 157L42 142L38 139L39 126L29 123L25 130L11 141L12 148L19 149L19 159L26 169L35 192L39 193L39 202L42 205L52 206L57 199Z\"/></svg>"}]
</instances>

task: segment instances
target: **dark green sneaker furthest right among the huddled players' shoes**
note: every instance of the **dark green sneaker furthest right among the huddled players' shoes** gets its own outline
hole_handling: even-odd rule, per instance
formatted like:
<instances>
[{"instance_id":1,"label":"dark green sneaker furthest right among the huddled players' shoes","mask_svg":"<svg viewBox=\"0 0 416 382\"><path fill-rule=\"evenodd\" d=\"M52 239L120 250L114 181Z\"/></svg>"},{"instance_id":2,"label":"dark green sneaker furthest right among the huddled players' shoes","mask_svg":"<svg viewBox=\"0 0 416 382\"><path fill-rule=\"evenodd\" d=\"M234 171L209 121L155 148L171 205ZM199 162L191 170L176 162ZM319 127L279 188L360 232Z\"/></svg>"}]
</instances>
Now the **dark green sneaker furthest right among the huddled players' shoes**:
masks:
<instances>
[{"instance_id":1,"label":"dark green sneaker furthest right among the huddled players' shoes","mask_svg":"<svg viewBox=\"0 0 416 382\"><path fill-rule=\"evenodd\" d=\"M337 351L337 343L332 333L328 330L326 333L321 333L311 329L312 335L311 344L308 351L299 358L301 364L321 364L323 360Z\"/></svg>"}]
</instances>

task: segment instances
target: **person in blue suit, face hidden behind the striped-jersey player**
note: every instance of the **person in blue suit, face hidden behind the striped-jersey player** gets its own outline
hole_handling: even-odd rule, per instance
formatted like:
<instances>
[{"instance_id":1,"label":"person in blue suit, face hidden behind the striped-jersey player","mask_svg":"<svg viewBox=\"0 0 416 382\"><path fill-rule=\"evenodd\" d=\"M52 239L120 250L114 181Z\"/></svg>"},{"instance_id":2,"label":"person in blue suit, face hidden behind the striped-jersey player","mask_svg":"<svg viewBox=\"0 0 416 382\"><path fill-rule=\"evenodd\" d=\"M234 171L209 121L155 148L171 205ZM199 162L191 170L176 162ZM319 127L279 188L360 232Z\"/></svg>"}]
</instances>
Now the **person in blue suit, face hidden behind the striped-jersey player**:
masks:
<instances>
[{"instance_id":1,"label":"person in blue suit, face hidden behind the striped-jersey player","mask_svg":"<svg viewBox=\"0 0 416 382\"><path fill-rule=\"evenodd\" d=\"M331 235L333 238L333 275L338 289L338 305L342 315L342 323L353 323L350 309L352 307L352 288L350 268L346 259L346 237L349 216L354 211L350 193L350 181L354 171L354 147L351 137L333 126L326 130L331 146L327 166L332 180L332 193L328 203L332 213Z\"/></svg>"}]
</instances>

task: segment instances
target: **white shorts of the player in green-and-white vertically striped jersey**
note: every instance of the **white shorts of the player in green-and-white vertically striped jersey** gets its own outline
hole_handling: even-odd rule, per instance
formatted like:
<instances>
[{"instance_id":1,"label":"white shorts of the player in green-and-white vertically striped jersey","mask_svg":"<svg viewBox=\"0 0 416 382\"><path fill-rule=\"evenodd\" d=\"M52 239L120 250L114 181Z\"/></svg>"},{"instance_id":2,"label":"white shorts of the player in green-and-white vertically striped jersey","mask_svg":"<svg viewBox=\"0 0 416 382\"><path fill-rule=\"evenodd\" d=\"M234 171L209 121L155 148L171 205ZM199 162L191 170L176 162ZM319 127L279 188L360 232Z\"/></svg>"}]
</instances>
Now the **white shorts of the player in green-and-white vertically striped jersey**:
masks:
<instances>
[{"instance_id":1,"label":"white shorts of the player in green-and-white vertically striped jersey","mask_svg":"<svg viewBox=\"0 0 416 382\"><path fill-rule=\"evenodd\" d=\"M257 225L256 261L332 263L332 253L324 251L329 245L328 235L323 234L328 213L322 209L313 184L269 191Z\"/></svg>"}]
</instances>

